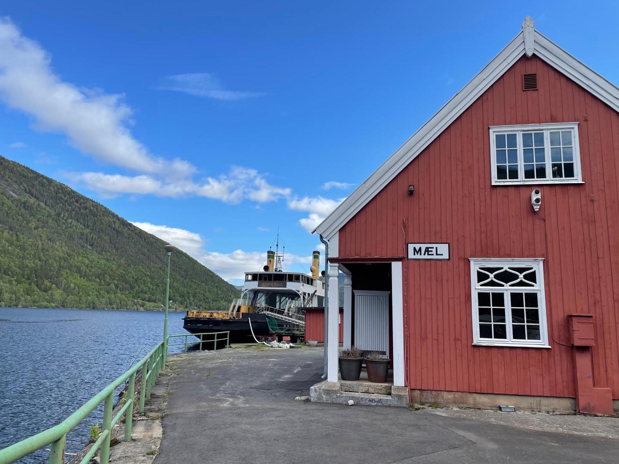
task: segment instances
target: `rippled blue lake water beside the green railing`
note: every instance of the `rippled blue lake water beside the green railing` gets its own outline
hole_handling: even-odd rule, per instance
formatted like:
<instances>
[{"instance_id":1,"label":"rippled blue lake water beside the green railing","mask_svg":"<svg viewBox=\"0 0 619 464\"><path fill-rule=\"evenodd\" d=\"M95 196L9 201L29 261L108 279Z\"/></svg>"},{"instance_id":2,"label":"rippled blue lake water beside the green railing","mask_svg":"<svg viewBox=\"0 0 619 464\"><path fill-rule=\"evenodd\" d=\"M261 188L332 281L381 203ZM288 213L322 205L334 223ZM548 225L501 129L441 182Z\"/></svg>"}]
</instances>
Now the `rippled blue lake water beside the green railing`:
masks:
<instances>
[{"instance_id":1,"label":"rippled blue lake water beside the green railing","mask_svg":"<svg viewBox=\"0 0 619 464\"><path fill-rule=\"evenodd\" d=\"M168 313L170 335L186 333L184 315ZM161 311L0 308L0 449L63 421L162 338ZM102 416L100 406L67 436L67 452L84 447Z\"/></svg>"}]
</instances>

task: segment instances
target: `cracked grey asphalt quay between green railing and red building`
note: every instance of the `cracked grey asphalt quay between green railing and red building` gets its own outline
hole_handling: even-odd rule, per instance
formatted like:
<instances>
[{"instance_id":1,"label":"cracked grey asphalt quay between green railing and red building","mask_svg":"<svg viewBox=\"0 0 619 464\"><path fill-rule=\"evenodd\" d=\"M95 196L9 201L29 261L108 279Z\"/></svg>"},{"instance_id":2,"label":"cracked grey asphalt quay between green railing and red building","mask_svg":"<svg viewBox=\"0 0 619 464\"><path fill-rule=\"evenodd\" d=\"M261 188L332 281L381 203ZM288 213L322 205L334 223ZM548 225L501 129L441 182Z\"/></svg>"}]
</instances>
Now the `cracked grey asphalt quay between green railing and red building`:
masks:
<instances>
[{"instance_id":1,"label":"cracked grey asphalt quay between green railing and red building","mask_svg":"<svg viewBox=\"0 0 619 464\"><path fill-rule=\"evenodd\" d=\"M320 380L322 348L169 359L173 394L155 464L617 462L617 434L599 431L619 419L554 416L555 427L544 416L542 427L540 415L501 421L496 415L509 413L295 401ZM575 432L570 419L577 419ZM588 426L597 436L578 432Z\"/></svg>"}]
</instances>

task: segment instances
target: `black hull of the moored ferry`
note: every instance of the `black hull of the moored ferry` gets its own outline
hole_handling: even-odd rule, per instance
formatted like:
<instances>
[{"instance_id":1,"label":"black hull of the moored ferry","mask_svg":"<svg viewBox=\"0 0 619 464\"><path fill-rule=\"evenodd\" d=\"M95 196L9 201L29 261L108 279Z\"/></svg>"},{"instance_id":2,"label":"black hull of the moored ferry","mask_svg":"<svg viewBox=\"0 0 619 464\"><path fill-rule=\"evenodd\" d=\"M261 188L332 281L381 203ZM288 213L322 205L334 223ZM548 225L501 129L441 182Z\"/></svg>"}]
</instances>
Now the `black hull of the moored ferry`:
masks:
<instances>
[{"instance_id":1,"label":"black hull of the moored ferry","mask_svg":"<svg viewBox=\"0 0 619 464\"><path fill-rule=\"evenodd\" d=\"M249 328L249 319L251 319L251 329ZM253 329L254 335L258 340L261 337L268 337L269 324L267 324L266 316L259 313L242 313L240 319L215 319L214 317L184 317L183 328L189 333L211 333L211 332L230 332L230 343L255 343L254 337L251 335ZM199 338L199 336L197 336ZM204 340L212 340L212 335L204 335ZM221 340L221 338L218 338ZM223 342L217 342L218 347ZM203 343L202 348L212 348L213 342Z\"/></svg>"}]
</instances>

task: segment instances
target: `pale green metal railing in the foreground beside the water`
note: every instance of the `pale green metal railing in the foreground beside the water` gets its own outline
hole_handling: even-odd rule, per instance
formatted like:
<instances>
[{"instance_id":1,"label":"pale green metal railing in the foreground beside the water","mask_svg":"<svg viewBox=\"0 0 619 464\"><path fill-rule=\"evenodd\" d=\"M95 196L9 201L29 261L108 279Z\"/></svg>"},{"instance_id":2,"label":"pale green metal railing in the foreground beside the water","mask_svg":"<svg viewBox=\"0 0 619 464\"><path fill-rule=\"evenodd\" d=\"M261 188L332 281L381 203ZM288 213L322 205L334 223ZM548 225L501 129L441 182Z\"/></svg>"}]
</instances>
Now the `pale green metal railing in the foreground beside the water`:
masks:
<instances>
[{"instance_id":1,"label":"pale green metal railing in the foreground beside the water","mask_svg":"<svg viewBox=\"0 0 619 464\"><path fill-rule=\"evenodd\" d=\"M164 347L163 342L158 343L141 361L107 385L97 395L90 398L77 411L58 425L0 450L0 464L13 463L47 445L51 445L50 464L64 464L64 447L67 434L87 418L92 411L97 409L101 403L103 403L103 429L89 452L80 461L80 464L89 463L98 451L100 451L100 464L108 464L110 462L112 427L125 416L124 441L131 441L133 410L137 406L139 412L144 413L144 400L145 398L150 398L150 390L155 385L155 379L157 379L159 372L165 368ZM136 373L138 371L141 371L142 379L139 385L137 385L137 388L140 390L139 403L135 404ZM124 382L128 382L126 402L118 413L112 416L114 393Z\"/></svg>"}]
</instances>

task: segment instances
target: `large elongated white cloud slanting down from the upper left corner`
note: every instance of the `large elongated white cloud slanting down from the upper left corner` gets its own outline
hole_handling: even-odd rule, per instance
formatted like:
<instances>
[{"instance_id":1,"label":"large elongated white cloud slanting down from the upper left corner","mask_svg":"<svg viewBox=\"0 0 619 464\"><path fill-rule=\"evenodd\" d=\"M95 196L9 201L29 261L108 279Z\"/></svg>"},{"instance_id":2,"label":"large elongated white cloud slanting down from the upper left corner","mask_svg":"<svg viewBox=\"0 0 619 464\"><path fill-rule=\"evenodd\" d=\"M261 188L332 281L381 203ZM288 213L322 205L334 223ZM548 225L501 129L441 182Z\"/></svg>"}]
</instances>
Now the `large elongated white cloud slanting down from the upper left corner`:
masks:
<instances>
[{"instance_id":1,"label":"large elongated white cloud slanting down from the upper left corner","mask_svg":"<svg viewBox=\"0 0 619 464\"><path fill-rule=\"evenodd\" d=\"M63 82L51 69L50 55L7 18L0 18L0 98L33 116L37 129L64 134L69 144L105 163L173 178L195 171L187 161L151 155L128 129L132 110L122 95Z\"/></svg>"}]
</instances>

